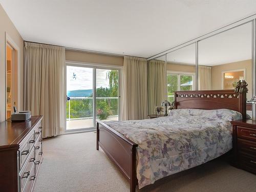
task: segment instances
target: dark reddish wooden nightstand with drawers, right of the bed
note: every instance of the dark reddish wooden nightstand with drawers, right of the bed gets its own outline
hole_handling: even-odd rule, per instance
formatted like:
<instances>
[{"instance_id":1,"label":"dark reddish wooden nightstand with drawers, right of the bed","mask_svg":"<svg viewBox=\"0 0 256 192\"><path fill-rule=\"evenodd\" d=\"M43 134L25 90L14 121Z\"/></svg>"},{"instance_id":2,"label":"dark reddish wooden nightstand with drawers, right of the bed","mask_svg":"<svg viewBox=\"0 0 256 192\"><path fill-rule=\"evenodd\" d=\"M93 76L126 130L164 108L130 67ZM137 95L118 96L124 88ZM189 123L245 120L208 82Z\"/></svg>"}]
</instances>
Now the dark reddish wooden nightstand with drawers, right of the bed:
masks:
<instances>
[{"instance_id":1,"label":"dark reddish wooden nightstand with drawers, right of the bed","mask_svg":"<svg viewBox=\"0 0 256 192\"><path fill-rule=\"evenodd\" d=\"M256 174L256 121L231 121L233 125L232 164Z\"/></svg>"}]
</instances>

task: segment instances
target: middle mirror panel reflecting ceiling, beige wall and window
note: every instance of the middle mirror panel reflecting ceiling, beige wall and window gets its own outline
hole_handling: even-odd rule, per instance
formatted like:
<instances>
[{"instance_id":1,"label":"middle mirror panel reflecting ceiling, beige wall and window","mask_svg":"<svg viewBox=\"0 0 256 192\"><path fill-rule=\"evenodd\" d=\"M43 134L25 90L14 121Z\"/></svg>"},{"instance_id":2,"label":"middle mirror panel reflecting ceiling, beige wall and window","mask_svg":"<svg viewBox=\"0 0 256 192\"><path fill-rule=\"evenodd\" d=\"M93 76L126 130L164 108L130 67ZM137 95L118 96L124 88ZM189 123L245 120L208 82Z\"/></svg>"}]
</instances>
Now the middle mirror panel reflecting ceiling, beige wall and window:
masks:
<instances>
[{"instance_id":1,"label":"middle mirror panel reflecting ceiling, beige wall and window","mask_svg":"<svg viewBox=\"0 0 256 192\"><path fill-rule=\"evenodd\" d=\"M195 61L195 44L166 54L168 101L174 101L175 91L195 90Z\"/></svg>"}]
</instances>

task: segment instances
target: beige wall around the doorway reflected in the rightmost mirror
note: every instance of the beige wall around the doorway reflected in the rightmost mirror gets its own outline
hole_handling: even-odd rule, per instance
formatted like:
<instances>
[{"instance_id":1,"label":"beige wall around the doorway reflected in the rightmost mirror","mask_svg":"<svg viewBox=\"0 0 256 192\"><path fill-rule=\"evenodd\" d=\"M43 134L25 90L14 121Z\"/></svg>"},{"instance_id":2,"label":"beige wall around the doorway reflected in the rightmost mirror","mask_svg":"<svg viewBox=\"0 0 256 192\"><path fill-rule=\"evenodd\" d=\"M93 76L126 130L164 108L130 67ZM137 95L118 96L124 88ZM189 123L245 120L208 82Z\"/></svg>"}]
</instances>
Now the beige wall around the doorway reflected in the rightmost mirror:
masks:
<instances>
[{"instance_id":1,"label":"beige wall around the doorway reflected in the rightmost mirror","mask_svg":"<svg viewBox=\"0 0 256 192\"><path fill-rule=\"evenodd\" d=\"M248 83L248 94L247 98L251 98L252 94L252 63L251 59L225 63L219 66L213 66L211 68L211 86L212 90L221 90L222 88L222 72L232 71L238 69L246 69L246 82Z\"/></svg>"}]
</instances>

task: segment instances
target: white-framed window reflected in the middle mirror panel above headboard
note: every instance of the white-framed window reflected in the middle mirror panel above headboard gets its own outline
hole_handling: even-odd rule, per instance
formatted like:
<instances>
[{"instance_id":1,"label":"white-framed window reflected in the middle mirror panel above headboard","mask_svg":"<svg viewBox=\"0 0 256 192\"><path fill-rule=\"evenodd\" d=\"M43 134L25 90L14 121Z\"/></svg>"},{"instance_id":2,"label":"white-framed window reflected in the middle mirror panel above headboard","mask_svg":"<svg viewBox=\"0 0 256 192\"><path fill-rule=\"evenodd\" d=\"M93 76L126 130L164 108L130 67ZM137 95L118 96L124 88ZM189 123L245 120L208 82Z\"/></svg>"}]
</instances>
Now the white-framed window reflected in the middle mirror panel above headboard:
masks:
<instances>
[{"instance_id":1,"label":"white-framed window reflected in the middle mirror panel above headboard","mask_svg":"<svg viewBox=\"0 0 256 192\"><path fill-rule=\"evenodd\" d=\"M194 73L167 72L167 99L174 101L175 91L195 90Z\"/></svg>"}]
</instances>

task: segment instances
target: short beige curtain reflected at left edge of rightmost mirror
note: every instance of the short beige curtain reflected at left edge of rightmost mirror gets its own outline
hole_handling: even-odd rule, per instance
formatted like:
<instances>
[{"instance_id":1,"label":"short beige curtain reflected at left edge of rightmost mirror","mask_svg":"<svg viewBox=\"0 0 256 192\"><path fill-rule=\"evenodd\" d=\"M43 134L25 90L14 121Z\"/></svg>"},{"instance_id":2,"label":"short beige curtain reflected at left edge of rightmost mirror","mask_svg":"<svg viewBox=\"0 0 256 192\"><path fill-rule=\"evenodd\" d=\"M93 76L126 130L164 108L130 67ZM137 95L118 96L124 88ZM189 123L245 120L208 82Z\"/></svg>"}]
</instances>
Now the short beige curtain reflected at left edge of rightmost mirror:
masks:
<instances>
[{"instance_id":1,"label":"short beige curtain reflected at left edge of rightmost mirror","mask_svg":"<svg viewBox=\"0 0 256 192\"><path fill-rule=\"evenodd\" d=\"M198 90L211 90L211 67L198 66Z\"/></svg>"}]
</instances>

